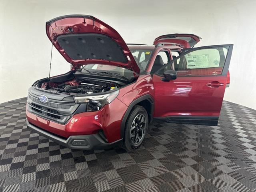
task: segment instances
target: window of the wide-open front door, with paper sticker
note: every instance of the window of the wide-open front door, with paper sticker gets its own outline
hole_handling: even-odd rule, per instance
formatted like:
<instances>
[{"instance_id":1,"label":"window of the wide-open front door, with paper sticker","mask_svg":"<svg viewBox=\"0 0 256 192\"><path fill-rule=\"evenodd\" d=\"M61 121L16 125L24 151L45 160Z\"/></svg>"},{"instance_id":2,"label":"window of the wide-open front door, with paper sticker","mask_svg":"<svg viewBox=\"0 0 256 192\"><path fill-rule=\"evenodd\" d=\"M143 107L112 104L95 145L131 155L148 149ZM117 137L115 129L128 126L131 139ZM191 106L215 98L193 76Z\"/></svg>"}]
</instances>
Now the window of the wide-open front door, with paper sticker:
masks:
<instances>
[{"instance_id":1,"label":"window of the wide-open front door, with paper sticker","mask_svg":"<svg viewBox=\"0 0 256 192\"><path fill-rule=\"evenodd\" d=\"M168 64L163 70L159 71L159 75L163 75L164 71L174 69L178 76L212 76L220 75L228 53L227 47L204 48L188 52L180 57L180 59Z\"/></svg>"}]
</instances>

